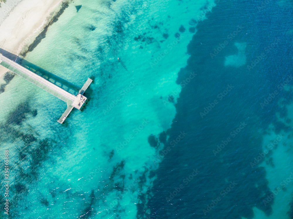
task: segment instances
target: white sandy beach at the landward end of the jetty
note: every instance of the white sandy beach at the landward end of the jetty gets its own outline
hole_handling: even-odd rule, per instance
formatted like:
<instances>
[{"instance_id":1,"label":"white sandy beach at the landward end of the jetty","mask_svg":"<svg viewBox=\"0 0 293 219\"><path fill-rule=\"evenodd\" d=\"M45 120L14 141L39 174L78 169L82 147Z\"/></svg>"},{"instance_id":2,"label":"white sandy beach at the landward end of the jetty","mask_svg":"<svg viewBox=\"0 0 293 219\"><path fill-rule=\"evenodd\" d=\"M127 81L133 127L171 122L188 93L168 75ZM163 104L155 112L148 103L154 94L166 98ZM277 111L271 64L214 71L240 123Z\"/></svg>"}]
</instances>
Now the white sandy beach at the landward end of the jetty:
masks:
<instances>
[{"instance_id":1,"label":"white sandy beach at the landward end of the jetty","mask_svg":"<svg viewBox=\"0 0 293 219\"><path fill-rule=\"evenodd\" d=\"M7 0L0 7L0 47L15 53L25 50L50 19L60 10L64 0ZM0 67L0 77L7 69Z\"/></svg>"}]
</instances>

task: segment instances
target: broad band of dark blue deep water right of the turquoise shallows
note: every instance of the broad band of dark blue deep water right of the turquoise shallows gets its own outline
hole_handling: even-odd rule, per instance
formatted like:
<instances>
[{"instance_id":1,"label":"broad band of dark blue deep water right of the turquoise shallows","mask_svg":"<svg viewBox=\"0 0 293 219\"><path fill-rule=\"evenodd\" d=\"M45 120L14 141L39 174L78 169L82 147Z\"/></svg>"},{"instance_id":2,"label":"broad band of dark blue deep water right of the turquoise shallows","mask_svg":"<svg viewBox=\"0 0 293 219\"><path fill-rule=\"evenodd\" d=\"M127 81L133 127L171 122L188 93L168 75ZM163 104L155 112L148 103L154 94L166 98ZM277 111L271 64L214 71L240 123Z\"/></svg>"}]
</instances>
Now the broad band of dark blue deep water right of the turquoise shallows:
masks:
<instances>
[{"instance_id":1,"label":"broad band of dark blue deep water right of the turquoise shallows","mask_svg":"<svg viewBox=\"0 0 293 219\"><path fill-rule=\"evenodd\" d=\"M284 104L292 101L292 92L278 89L292 74L292 35L287 33L292 23L292 8L280 7L275 1L218 1L208 19L197 25L188 45L188 65L178 73L177 82L188 72L194 71L197 77L182 88L165 147L181 131L187 134L166 153L155 171L158 178L149 202L152 218L253 218L254 206L266 215L272 213L273 201L263 203L263 197L271 193L265 168L258 166L261 161L251 168L250 162L262 152L262 133L269 124L276 133L292 132L292 127L275 116L287 116L287 109L277 104L280 99ZM238 25L243 25L243 30L212 59L209 54ZM237 53L234 42L246 43L246 64L225 67L225 56ZM249 70L247 65L261 53L267 58ZM219 100L217 95L228 85L234 88ZM278 95L262 108L260 103L275 90ZM214 100L217 105L202 118L200 112ZM241 122L247 126L230 135ZM215 156L212 151L228 137L231 141ZM194 169L198 175L184 182ZM231 182L236 183L231 191L220 194ZM178 192L180 184L184 187ZM221 198L218 203L217 197ZM213 200L216 205L208 209Z\"/></svg>"}]
</instances>

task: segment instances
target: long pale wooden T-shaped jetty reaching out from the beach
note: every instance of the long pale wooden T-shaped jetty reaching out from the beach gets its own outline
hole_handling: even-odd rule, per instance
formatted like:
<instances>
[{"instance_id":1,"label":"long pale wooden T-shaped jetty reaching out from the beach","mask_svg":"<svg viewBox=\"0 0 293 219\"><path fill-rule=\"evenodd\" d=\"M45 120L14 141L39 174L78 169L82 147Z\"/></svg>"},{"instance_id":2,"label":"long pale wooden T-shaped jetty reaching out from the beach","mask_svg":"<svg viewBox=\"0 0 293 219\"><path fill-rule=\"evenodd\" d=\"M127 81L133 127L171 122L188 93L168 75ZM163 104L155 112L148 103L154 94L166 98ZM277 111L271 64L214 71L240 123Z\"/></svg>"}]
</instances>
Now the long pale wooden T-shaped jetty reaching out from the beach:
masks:
<instances>
[{"instance_id":1,"label":"long pale wooden T-shaped jetty reaching out from the beach","mask_svg":"<svg viewBox=\"0 0 293 219\"><path fill-rule=\"evenodd\" d=\"M62 114L60 119L57 120L59 123L63 123L64 120L67 118L69 113L73 108L81 109L82 105L86 102L87 98L83 96L84 92L88 88L88 86L93 81L92 79L88 78L84 86L79 90L79 93L75 96L67 91L64 91L62 88L58 87L57 85L47 81L46 79L40 77L39 75L31 72L30 70L26 69L25 67L19 65L18 63L6 58L2 54L0 54L0 65L6 67L7 69L11 70L15 74L23 77L24 79L30 81L31 83L37 85L38 87L42 88L43 90L53 94L55 97L63 100L67 103L67 109Z\"/></svg>"}]
</instances>

